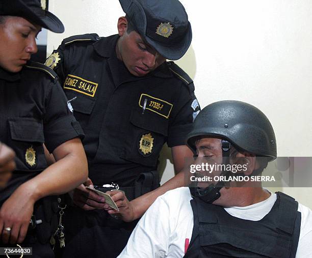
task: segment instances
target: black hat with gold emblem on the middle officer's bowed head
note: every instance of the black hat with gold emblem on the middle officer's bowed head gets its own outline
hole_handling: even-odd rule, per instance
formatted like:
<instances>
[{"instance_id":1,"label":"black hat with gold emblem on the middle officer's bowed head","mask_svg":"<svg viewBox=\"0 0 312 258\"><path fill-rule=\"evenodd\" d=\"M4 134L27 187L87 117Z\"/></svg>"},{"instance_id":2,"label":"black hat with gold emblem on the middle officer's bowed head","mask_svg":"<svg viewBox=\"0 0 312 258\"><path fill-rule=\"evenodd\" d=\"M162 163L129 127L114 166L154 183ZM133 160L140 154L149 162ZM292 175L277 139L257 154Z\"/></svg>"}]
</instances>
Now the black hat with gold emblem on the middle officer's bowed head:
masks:
<instances>
[{"instance_id":1,"label":"black hat with gold emblem on the middle officer's bowed head","mask_svg":"<svg viewBox=\"0 0 312 258\"><path fill-rule=\"evenodd\" d=\"M119 0L136 31L161 55L180 59L192 41L191 23L178 0Z\"/></svg>"}]
</instances>

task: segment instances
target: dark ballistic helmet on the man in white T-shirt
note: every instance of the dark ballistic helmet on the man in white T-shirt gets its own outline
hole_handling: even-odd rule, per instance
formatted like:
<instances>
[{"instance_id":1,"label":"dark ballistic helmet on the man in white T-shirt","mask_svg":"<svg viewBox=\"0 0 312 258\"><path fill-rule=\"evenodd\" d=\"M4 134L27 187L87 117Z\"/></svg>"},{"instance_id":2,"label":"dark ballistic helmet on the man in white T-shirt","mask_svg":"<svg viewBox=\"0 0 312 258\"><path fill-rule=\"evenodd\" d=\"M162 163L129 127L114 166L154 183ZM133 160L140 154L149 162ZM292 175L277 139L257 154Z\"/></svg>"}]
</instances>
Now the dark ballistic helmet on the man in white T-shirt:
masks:
<instances>
[{"instance_id":1,"label":"dark ballistic helmet on the man in white T-shirt","mask_svg":"<svg viewBox=\"0 0 312 258\"><path fill-rule=\"evenodd\" d=\"M196 136L224 138L239 149L257 156L276 159L276 141L273 127L265 114L241 101L223 100L203 108L187 136L187 145L195 153Z\"/></svg>"}]
</instances>

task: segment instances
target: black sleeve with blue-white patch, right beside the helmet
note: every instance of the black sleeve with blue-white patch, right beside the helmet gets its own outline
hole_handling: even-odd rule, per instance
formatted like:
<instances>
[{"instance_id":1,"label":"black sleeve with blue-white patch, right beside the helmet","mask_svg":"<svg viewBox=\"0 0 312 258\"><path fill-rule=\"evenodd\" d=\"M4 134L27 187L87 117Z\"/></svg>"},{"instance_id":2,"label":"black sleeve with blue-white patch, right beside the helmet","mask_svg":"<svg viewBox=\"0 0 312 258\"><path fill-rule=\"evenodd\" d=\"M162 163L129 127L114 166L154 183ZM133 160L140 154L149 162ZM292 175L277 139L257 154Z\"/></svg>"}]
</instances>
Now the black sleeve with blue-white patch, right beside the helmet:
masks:
<instances>
[{"instance_id":1,"label":"black sleeve with blue-white patch, right beside the helmet","mask_svg":"<svg viewBox=\"0 0 312 258\"><path fill-rule=\"evenodd\" d=\"M179 92L168 130L168 146L185 145L186 136L192 129L192 124L200 111L200 106L193 92L183 85Z\"/></svg>"}]
</instances>

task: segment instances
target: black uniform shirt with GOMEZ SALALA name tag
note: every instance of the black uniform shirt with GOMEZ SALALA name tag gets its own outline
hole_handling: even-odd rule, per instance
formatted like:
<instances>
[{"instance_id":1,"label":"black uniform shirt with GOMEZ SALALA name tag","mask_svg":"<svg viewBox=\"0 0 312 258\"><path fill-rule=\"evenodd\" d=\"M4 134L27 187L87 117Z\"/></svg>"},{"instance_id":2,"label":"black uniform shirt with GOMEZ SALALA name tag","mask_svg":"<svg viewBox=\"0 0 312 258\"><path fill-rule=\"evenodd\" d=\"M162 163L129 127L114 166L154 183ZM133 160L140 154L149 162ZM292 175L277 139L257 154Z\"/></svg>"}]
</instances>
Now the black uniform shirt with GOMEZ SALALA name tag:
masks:
<instances>
[{"instance_id":1,"label":"black uniform shirt with GOMEZ SALALA name tag","mask_svg":"<svg viewBox=\"0 0 312 258\"><path fill-rule=\"evenodd\" d=\"M164 143L184 145L199 110L194 88L169 63L143 77L132 75L117 59L117 40L118 35L73 36L46 62L59 75L86 134L95 185L132 185L140 173L156 169Z\"/></svg>"}]
</instances>

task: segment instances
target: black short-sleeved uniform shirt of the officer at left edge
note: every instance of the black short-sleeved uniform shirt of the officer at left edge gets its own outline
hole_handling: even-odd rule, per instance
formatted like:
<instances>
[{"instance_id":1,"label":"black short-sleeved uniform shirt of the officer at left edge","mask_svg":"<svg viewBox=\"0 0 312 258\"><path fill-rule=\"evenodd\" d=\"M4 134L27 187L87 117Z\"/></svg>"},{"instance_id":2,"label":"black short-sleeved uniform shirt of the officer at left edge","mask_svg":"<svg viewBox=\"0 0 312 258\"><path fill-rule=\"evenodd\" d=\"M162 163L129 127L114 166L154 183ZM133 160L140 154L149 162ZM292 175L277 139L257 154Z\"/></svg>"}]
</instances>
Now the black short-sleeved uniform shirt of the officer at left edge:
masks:
<instances>
[{"instance_id":1,"label":"black short-sleeved uniform shirt of the officer at left edge","mask_svg":"<svg viewBox=\"0 0 312 258\"><path fill-rule=\"evenodd\" d=\"M43 143L53 152L83 136L53 70L29 62L19 73L0 68L0 141L16 153L16 170L0 190L0 205L20 184L47 167Z\"/></svg>"}]
</instances>

